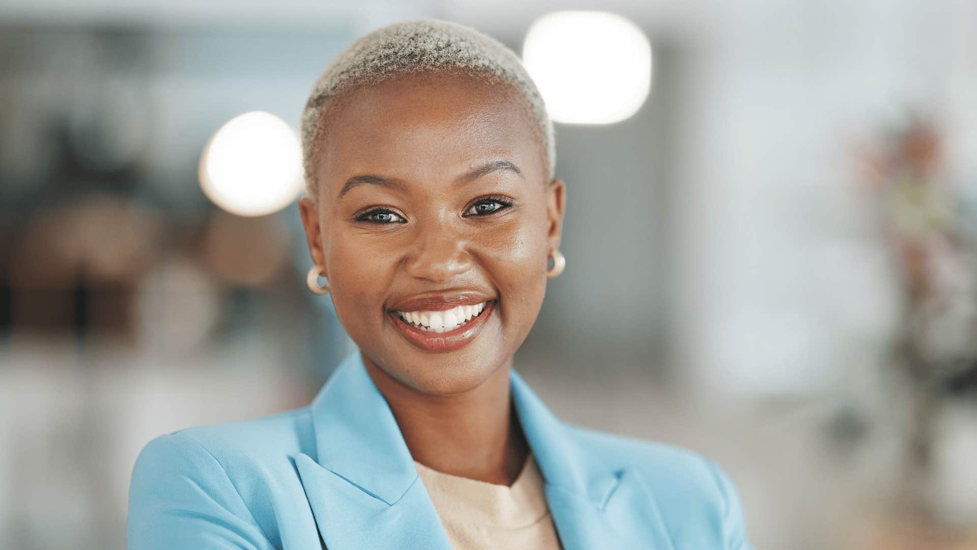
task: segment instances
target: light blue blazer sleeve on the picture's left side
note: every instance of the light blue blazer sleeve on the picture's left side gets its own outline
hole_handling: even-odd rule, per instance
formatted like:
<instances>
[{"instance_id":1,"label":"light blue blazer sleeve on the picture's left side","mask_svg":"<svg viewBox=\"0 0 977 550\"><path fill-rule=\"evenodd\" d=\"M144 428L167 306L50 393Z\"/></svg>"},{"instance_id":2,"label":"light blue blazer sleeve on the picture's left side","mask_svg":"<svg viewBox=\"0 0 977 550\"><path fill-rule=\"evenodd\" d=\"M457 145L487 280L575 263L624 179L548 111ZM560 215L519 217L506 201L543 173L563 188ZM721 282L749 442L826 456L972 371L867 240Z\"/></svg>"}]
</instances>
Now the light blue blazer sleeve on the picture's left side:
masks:
<instances>
[{"instance_id":1,"label":"light blue blazer sleeve on the picture's left side","mask_svg":"<svg viewBox=\"0 0 977 550\"><path fill-rule=\"evenodd\" d=\"M126 539L129 550L273 548L217 459L180 433L149 441L136 460Z\"/></svg>"}]
</instances>

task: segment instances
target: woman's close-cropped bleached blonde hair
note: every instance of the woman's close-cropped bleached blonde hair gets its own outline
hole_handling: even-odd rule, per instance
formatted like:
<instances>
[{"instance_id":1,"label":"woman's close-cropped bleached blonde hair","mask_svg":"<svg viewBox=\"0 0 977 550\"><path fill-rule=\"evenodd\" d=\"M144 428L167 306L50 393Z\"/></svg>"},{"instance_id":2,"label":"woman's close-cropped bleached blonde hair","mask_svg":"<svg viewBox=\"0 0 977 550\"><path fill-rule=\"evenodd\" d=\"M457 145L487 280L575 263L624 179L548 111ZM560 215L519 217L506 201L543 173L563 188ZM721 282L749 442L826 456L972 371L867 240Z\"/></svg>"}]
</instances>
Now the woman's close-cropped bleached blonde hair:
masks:
<instances>
[{"instance_id":1,"label":"woman's close-cropped bleached blonde hair","mask_svg":"<svg viewBox=\"0 0 977 550\"><path fill-rule=\"evenodd\" d=\"M428 70L486 78L509 85L525 103L543 141L547 180L556 169L553 122L519 56L469 26L440 20L390 24L362 36L340 52L319 75L302 112L302 166L306 194L315 197L317 144L330 100L344 92L399 75Z\"/></svg>"}]
</instances>

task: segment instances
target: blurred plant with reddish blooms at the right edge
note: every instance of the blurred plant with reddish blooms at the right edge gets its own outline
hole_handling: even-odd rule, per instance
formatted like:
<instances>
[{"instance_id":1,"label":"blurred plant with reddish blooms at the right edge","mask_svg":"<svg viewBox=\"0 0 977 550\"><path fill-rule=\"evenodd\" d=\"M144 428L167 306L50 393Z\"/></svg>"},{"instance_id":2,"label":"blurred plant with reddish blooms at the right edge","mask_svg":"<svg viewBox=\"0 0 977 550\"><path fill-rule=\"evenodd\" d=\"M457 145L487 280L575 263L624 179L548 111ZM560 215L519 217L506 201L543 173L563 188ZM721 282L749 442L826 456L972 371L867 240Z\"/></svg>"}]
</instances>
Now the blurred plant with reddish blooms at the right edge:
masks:
<instances>
[{"instance_id":1,"label":"blurred plant with reddish blooms at the right edge","mask_svg":"<svg viewBox=\"0 0 977 550\"><path fill-rule=\"evenodd\" d=\"M977 208L948 183L942 151L936 124L913 116L863 155L901 281L894 355L912 396L906 496L917 505L925 500L941 405L977 381Z\"/></svg>"}]
</instances>

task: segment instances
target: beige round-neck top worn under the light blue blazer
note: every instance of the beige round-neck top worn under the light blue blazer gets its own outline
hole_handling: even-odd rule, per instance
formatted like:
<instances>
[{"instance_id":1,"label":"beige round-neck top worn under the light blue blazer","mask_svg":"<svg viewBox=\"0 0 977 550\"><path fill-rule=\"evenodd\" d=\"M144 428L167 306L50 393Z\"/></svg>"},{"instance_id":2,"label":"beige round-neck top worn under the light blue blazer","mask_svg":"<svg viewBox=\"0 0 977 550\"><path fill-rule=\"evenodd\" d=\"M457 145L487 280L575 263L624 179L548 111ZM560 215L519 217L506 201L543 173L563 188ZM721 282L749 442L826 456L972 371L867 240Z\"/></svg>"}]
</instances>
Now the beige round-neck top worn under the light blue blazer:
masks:
<instances>
[{"instance_id":1,"label":"beige round-neck top worn under the light blue blazer","mask_svg":"<svg viewBox=\"0 0 977 550\"><path fill-rule=\"evenodd\" d=\"M414 461L455 550L559 550L542 473L532 453L511 486L469 480Z\"/></svg>"}]
</instances>

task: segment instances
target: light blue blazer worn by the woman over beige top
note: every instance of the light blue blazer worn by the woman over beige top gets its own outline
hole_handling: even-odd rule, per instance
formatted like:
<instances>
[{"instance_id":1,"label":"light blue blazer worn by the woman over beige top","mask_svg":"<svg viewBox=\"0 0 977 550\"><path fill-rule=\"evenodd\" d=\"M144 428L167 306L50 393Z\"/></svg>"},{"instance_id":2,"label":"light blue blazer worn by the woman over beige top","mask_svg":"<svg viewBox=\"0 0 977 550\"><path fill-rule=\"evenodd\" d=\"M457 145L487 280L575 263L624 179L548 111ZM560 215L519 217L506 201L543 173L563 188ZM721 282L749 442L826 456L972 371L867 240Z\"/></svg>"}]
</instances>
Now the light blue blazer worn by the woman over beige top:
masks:
<instances>
[{"instance_id":1,"label":"light blue blazer worn by the woman over beige top","mask_svg":"<svg viewBox=\"0 0 977 550\"><path fill-rule=\"evenodd\" d=\"M522 377L511 380L564 548L751 548L715 464L564 424ZM359 350L308 407L150 441L132 475L127 536L132 550L450 548Z\"/></svg>"}]
</instances>

